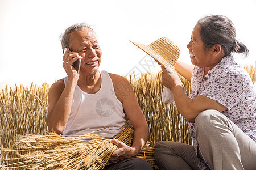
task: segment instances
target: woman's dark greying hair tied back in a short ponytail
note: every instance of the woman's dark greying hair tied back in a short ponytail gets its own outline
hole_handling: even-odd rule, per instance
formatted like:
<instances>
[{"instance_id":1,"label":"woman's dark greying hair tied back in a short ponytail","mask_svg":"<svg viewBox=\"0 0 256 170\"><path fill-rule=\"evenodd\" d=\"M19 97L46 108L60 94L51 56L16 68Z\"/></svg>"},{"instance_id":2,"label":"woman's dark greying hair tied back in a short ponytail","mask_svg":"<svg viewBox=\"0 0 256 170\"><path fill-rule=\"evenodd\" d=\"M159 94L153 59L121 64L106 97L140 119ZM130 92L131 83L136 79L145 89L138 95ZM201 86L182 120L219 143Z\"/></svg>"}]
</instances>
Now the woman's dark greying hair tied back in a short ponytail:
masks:
<instances>
[{"instance_id":1,"label":"woman's dark greying hair tied back in a short ponytail","mask_svg":"<svg viewBox=\"0 0 256 170\"><path fill-rule=\"evenodd\" d=\"M236 40L236 29L232 21L226 16L210 15L205 16L197 22L200 26L200 36L205 48L219 44L224 51L224 56L233 53L249 54L247 47Z\"/></svg>"}]
</instances>

